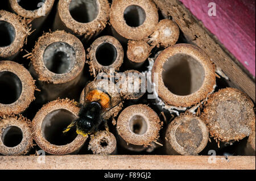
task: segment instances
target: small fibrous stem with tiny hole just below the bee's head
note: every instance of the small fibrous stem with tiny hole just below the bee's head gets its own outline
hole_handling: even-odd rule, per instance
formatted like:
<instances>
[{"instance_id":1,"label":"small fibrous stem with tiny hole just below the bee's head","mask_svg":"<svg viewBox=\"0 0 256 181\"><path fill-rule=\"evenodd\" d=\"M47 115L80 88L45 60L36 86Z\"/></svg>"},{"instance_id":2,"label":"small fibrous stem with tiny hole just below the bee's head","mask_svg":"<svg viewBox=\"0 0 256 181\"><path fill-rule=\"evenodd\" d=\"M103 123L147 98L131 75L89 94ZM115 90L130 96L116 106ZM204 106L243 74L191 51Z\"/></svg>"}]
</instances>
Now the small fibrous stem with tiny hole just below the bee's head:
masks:
<instances>
[{"instance_id":1,"label":"small fibrous stem with tiny hole just below the bee's head","mask_svg":"<svg viewBox=\"0 0 256 181\"><path fill-rule=\"evenodd\" d=\"M117 140L114 134L108 131L99 131L91 136L88 149L93 154L117 154Z\"/></svg>"}]
</instances>

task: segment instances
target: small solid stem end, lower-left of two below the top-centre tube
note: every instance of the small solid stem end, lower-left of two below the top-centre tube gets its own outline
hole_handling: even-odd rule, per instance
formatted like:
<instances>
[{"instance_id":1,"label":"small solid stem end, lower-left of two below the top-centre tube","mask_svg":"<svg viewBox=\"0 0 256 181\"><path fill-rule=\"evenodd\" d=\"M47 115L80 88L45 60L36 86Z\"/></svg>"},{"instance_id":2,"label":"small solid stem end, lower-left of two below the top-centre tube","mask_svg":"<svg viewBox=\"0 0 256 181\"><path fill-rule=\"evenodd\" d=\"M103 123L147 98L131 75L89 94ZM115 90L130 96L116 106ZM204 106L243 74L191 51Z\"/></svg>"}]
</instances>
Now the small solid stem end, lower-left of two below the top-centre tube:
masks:
<instances>
[{"instance_id":1,"label":"small solid stem end, lower-left of two below the top-centre tube","mask_svg":"<svg viewBox=\"0 0 256 181\"><path fill-rule=\"evenodd\" d=\"M128 41L127 58L134 63L142 63L147 60L150 55L150 45L143 40Z\"/></svg>"}]
</instances>

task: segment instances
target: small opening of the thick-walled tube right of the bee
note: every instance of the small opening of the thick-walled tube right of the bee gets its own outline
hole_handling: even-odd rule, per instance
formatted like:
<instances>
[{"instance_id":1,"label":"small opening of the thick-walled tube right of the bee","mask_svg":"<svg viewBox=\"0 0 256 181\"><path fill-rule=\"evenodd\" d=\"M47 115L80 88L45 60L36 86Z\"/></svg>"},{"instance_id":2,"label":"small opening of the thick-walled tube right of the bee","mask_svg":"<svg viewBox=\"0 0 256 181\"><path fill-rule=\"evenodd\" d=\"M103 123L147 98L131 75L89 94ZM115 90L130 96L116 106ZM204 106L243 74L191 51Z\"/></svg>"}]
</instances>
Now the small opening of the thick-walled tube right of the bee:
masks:
<instances>
[{"instance_id":1,"label":"small opening of the thick-walled tube right of the bee","mask_svg":"<svg viewBox=\"0 0 256 181\"><path fill-rule=\"evenodd\" d=\"M147 132L147 123L144 117L141 115L135 115L131 117L130 129L135 134L144 134Z\"/></svg>"}]
</instances>

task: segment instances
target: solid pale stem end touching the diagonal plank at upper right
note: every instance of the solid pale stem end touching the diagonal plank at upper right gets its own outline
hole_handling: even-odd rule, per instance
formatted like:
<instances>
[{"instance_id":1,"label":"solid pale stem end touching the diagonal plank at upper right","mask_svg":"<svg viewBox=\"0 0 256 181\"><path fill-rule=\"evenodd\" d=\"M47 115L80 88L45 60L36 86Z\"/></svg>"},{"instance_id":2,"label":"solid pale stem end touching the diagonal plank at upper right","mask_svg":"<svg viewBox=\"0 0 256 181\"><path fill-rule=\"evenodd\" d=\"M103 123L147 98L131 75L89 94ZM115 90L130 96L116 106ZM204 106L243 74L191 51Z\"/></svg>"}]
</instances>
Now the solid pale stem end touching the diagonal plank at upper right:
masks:
<instances>
[{"instance_id":1,"label":"solid pale stem end touching the diagonal plank at upper right","mask_svg":"<svg viewBox=\"0 0 256 181\"><path fill-rule=\"evenodd\" d=\"M164 48L175 45L179 39L180 30L175 22L170 19L160 20L156 30L150 35L149 43L153 47Z\"/></svg>"}]
</instances>

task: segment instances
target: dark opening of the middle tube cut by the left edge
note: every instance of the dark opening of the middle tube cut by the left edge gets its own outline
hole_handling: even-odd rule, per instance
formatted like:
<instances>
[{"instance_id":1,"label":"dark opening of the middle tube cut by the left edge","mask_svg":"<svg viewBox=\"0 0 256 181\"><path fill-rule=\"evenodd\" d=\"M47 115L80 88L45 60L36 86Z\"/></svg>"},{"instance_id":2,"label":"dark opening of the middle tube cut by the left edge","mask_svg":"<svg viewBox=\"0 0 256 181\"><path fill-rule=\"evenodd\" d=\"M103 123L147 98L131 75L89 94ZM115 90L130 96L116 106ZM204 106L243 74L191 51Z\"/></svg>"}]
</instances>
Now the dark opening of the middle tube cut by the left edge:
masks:
<instances>
[{"instance_id":1,"label":"dark opening of the middle tube cut by the left edge","mask_svg":"<svg viewBox=\"0 0 256 181\"><path fill-rule=\"evenodd\" d=\"M22 82L10 71L0 72L0 103L11 104L19 99L22 93Z\"/></svg>"}]
</instances>

